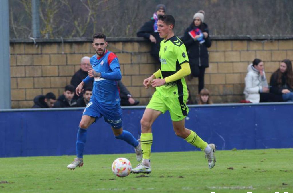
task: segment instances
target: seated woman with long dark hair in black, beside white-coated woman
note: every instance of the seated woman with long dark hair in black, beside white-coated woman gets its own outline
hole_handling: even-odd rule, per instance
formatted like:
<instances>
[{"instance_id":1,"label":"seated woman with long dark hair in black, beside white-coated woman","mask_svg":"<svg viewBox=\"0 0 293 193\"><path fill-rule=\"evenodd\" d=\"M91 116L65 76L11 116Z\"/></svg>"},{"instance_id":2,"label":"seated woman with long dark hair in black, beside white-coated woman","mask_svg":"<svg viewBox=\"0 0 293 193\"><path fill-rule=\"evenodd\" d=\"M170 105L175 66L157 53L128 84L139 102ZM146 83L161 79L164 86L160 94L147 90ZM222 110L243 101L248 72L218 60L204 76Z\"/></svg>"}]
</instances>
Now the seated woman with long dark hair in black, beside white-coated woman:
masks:
<instances>
[{"instance_id":1,"label":"seated woman with long dark hair in black, beside white-coated woman","mask_svg":"<svg viewBox=\"0 0 293 193\"><path fill-rule=\"evenodd\" d=\"M282 96L284 101L293 101L293 71L290 60L281 62L280 68L271 76L270 93Z\"/></svg>"}]
</instances>

